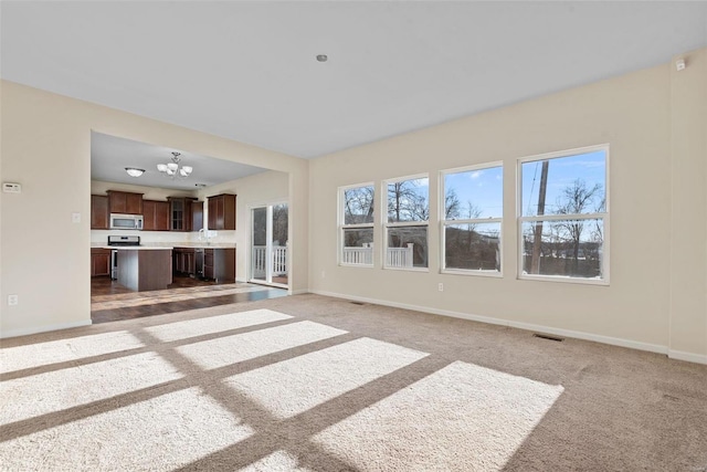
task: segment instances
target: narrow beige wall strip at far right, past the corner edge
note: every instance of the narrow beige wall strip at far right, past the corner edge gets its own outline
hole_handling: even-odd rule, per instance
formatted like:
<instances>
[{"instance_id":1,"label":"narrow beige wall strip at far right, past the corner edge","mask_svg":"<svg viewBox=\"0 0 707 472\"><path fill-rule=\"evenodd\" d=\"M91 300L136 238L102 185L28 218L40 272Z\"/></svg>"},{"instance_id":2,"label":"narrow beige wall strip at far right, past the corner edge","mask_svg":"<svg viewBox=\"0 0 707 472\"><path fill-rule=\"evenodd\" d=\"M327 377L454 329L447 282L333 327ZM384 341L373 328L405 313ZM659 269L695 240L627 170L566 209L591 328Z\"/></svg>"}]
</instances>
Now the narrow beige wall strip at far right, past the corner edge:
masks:
<instances>
[{"instance_id":1,"label":"narrow beige wall strip at far right, past the corner edge","mask_svg":"<svg viewBox=\"0 0 707 472\"><path fill-rule=\"evenodd\" d=\"M671 350L707 354L707 49L671 67Z\"/></svg>"}]
</instances>

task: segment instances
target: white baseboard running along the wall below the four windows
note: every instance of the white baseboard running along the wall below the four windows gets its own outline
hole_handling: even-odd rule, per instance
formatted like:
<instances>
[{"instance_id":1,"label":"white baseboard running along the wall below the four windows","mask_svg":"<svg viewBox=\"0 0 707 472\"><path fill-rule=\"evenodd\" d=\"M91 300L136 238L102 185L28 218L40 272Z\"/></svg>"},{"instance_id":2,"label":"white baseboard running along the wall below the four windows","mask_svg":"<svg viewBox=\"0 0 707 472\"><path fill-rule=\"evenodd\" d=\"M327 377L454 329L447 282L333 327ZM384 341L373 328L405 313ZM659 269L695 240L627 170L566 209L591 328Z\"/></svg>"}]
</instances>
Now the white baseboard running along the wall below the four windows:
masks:
<instances>
[{"instance_id":1,"label":"white baseboard running along the wall below the four windows","mask_svg":"<svg viewBox=\"0 0 707 472\"><path fill-rule=\"evenodd\" d=\"M647 350L650 353L666 354L666 355L668 354L667 346L661 346L661 345L657 345L657 344L641 343L641 342L631 340L631 339L622 339L622 338L619 338L619 337L602 336L602 335L577 332L577 331L571 331L571 329L555 328L555 327L550 327L550 326L535 325L535 324L530 324L530 323L520 323L520 322L514 322L514 321L509 321L509 319L494 318L494 317L489 317L489 316L479 316L479 315L473 315L473 314L468 314L468 313L452 312L452 311L449 311L449 310L439 310L439 308L432 308L432 307L429 307L429 306L409 305L409 304L405 304L405 303L397 303L397 302L389 302L389 301L384 301L384 300L367 298L367 297L362 297L362 296L352 296L352 295L346 295L346 294L340 294L340 293L333 293L333 292L325 292L325 291L312 291L312 293L316 293L317 295L324 295L324 296L333 296L333 297L336 297L336 298L352 300L352 301L356 301L356 302L365 302L365 303L373 303L373 304L377 304L377 305L392 306L392 307L395 307L395 308L412 310L412 311L415 311L415 312L431 313L431 314L434 314L434 315L443 315L443 316L451 316L451 317L454 317L454 318L469 319L469 321L473 321L473 322L488 323L488 324L492 324L492 325L510 326L510 327L514 327L514 328L526 329L526 331L531 331L531 332L539 332L539 333L546 333L546 334L553 334L553 335L558 335L558 336L572 337L572 338L576 338L576 339L592 340L592 342L595 342L595 343L610 344L612 346L629 347L631 349L639 349L639 350ZM683 354L685 354L686 356L700 357L698 355L690 355L688 353L683 353ZM675 357L675 358L677 359L678 357ZM687 359L683 358L683 360L687 360ZM692 361L697 361L697 360L692 360Z\"/></svg>"}]
</instances>

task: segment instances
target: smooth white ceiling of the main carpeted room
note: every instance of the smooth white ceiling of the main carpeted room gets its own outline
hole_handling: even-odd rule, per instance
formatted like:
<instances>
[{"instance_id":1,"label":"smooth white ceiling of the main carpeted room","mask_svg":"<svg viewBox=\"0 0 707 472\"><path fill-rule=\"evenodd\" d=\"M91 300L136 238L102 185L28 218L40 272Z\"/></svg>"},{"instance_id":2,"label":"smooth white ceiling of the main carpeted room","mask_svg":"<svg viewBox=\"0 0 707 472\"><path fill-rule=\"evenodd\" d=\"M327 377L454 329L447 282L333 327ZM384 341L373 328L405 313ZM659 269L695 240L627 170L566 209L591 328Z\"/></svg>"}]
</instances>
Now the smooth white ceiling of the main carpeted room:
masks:
<instances>
[{"instance_id":1,"label":"smooth white ceiling of the main carpeted room","mask_svg":"<svg viewBox=\"0 0 707 472\"><path fill-rule=\"evenodd\" d=\"M7 80L307 158L707 45L705 1L0 8Z\"/></svg>"}]
</instances>

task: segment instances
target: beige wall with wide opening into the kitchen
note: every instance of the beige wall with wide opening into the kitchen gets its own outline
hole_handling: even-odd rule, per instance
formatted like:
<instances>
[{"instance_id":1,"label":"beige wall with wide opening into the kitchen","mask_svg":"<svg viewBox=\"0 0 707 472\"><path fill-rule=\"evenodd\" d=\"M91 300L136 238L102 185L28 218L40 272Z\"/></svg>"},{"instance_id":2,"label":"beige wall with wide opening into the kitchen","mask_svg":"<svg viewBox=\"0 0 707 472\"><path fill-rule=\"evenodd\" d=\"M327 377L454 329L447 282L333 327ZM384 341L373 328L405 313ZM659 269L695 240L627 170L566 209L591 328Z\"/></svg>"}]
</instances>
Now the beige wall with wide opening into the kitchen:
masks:
<instances>
[{"instance_id":1,"label":"beige wall with wide opening into the kitchen","mask_svg":"<svg viewBox=\"0 0 707 472\"><path fill-rule=\"evenodd\" d=\"M2 81L0 335L89 323L91 132L265 167L291 176L291 282L307 287L308 162L255 146ZM81 223L71 213L80 212ZM9 307L7 297L20 304Z\"/></svg>"}]
</instances>

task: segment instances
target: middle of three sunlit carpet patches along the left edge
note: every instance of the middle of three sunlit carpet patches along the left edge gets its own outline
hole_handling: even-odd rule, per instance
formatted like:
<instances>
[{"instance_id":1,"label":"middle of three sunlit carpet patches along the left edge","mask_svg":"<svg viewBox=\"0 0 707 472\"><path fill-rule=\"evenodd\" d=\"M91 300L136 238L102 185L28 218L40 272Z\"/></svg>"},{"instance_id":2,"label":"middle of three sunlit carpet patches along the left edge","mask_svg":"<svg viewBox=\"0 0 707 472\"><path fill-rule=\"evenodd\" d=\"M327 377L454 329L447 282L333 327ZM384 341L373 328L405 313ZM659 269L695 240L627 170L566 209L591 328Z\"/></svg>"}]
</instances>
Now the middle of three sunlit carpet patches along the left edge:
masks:
<instances>
[{"instance_id":1,"label":"middle of three sunlit carpet patches along the left edge","mask_svg":"<svg viewBox=\"0 0 707 472\"><path fill-rule=\"evenodd\" d=\"M0 424L51 413L181 378L156 353L143 353L2 382ZM33 401L27 401L28 398Z\"/></svg>"}]
</instances>

